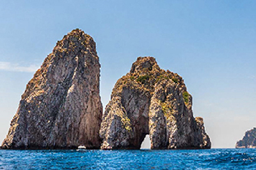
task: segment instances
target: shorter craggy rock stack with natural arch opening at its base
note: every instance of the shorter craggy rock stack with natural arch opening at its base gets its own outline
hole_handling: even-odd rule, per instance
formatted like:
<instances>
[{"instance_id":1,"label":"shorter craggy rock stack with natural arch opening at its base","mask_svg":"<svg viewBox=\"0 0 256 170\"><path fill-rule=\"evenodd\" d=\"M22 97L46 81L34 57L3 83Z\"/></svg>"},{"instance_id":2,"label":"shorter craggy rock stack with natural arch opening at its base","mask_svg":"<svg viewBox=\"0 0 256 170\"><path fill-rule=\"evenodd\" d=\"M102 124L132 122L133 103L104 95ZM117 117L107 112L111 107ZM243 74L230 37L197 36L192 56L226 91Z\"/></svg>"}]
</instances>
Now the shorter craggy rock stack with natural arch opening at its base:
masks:
<instances>
[{"instance_id":1,"label":"shorter craggy rock stack with natural arch opening at its base","mask_svg":"<svg viewBox=\"0 0 256 170\"><path fill-rule=\"evenodd\" d=\"M153 57L138 57L106 106L101 148L140 149L147 134L152 149L211 148L203 118L194 118L191 107L182 77L160 69Z\"/></svg>"}]
</instances>

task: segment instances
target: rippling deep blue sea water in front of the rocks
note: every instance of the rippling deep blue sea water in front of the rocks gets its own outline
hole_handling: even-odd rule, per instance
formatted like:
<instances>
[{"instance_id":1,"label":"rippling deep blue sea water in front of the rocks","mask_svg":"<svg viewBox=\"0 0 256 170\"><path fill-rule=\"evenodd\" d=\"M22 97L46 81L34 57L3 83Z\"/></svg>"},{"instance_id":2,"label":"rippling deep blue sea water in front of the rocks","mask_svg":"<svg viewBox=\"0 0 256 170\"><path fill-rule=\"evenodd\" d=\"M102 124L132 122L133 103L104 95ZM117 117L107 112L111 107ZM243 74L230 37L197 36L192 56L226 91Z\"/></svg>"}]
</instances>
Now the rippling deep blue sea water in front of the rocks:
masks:
<instances>
[{"instance_id":1,"label":"rippling deep blue sea water in front of the rocks","mask_svg":"<svg viewBox=\"0 0 256 170\"><path fill-rule=\"evenodd\" d=\"M0 169L256 169L256 149L0 150Z\"/></svg>"}]
</instances>

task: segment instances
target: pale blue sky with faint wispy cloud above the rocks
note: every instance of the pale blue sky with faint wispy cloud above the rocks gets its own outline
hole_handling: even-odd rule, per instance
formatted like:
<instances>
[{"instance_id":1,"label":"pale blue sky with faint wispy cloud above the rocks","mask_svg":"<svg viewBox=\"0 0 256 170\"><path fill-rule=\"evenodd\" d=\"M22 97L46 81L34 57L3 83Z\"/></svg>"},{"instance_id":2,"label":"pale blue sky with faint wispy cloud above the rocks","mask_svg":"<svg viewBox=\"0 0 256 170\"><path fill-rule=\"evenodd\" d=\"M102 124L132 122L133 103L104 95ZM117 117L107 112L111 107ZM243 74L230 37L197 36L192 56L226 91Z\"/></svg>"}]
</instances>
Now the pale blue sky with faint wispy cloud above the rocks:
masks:
<instances>
[{"instance_id":1,"label":"pale blue sky with faint wispy cloud above the rocks","mask_svg":"<svg viewBox=\"0 0 256 170\"><path fill-rule=\"evenodd\" d=\"M56 42L82 29L97 43L104 107L139 56L180 74L212 148L256 127L256 1L1 1L0 141L26 84Z\"/></svg>"}]
</instances>

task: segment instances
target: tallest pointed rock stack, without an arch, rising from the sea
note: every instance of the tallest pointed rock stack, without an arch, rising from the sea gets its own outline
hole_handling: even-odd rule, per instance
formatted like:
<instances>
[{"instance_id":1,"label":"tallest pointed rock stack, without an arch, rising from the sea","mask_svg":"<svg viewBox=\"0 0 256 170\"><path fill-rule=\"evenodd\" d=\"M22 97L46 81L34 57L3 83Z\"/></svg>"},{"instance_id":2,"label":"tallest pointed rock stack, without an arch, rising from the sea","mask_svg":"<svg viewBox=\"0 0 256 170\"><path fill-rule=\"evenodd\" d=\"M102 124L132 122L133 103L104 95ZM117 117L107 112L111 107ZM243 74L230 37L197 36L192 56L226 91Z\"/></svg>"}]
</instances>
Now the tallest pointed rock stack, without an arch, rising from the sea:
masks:
<instances>
[{"instance_id":1,"label":"tallest pointed rock stack, without an arch, rising from the sea","mask_svg":"<svg viewBox=\"0 0 256 170\"><path fill-rule=\"evenodd\" d=\"M93 38L68 33L29 81L2 148L99 148L99 76Z\"/></svg>"}]
</instances>

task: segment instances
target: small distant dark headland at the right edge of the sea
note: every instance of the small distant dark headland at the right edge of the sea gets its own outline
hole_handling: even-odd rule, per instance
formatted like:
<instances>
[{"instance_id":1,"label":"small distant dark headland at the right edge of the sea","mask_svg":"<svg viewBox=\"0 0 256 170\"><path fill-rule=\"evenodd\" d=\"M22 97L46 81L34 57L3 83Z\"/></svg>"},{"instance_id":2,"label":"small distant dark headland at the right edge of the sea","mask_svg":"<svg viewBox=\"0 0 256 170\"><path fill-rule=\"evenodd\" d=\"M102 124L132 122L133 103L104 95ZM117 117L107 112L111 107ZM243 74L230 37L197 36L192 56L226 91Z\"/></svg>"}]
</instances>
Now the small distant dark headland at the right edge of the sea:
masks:
<instances>
[{"instance_id":1,"label":"small distant dark headland at the right edge of the sea","mask_svg":"<svg viewBox=\"0 0 256 170\"><path fill-rule=\"evenodd\" d=\"M245 132L244 138L237 141L236 148L256 148L256 127Z\"/></svg>"}]
</instances>

